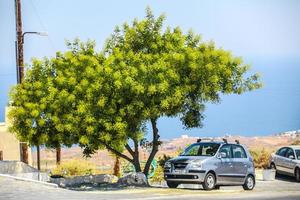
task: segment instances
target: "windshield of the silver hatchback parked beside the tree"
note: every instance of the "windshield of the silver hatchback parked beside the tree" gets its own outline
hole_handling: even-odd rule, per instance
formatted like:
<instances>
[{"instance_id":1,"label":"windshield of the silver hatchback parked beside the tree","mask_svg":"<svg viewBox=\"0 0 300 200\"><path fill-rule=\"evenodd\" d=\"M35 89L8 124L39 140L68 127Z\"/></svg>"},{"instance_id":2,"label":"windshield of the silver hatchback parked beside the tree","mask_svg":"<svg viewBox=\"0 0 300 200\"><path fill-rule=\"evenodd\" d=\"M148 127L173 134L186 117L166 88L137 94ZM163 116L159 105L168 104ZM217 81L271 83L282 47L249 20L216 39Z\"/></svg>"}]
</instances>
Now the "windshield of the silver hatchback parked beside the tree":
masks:
<instances>
[{"instance_id":1,"label":"windshield of the silver hatchback parked beside the tree","mask_svg":"<svg viewBox=\"0 0 300 200\"><path fill-rule=\"evenodd\" d=\"M181 156L214 156L220 144L217 143L196 143L189 146Z\"/></svg>"}]
</instances>

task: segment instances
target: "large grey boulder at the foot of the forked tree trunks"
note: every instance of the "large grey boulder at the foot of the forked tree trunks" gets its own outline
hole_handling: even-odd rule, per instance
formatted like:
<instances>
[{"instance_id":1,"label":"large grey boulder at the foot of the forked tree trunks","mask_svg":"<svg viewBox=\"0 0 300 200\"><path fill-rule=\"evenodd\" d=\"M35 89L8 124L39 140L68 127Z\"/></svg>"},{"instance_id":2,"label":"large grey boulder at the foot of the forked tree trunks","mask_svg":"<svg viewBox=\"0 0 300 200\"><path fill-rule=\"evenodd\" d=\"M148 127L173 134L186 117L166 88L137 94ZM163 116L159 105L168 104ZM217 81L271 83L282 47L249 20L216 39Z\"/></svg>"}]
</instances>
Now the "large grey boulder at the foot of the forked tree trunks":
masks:
<instances>
[{"instance_id":1,"label":"large grey boulder at the foot of the forked tree trunks","mask_svg":"<svg viewBox=\"0 0 300 200\"><path fill-rule=\"evenodd\" d=\"M148 186L148 180L142 172L130 173L118 181L119 185L123 186L140 186L145 187Z\"/></svg>"}]
</instances>

